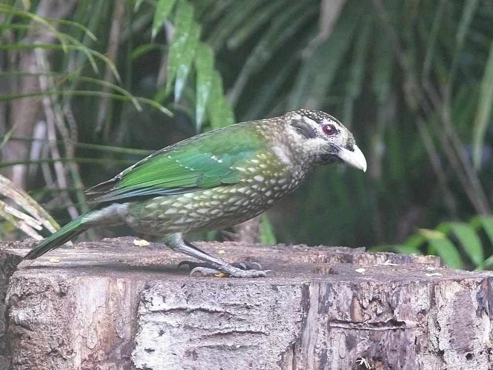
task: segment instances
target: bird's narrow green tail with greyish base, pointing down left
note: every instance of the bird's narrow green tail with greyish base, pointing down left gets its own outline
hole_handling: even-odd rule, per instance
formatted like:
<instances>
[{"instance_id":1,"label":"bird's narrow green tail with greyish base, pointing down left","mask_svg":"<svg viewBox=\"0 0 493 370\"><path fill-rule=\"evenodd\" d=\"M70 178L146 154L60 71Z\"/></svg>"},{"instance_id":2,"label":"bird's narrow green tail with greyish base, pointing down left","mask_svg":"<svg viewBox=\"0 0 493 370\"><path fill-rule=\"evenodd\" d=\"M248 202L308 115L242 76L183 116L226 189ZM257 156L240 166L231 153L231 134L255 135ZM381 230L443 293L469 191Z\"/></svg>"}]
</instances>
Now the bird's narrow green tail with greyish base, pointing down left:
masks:
<instances>
[{"instance_id":1,"label":"bird's narrow green tail with greyish base, pointing down left","mask_svg":"<svg viewBox=\"0 0 493 370\"><path fill-rule=\"evenodd\" d=\"M42 256L46 252L60 247L70 239L73 239L94 226L114 226L122 224L124 223L123 216L126 213L126 209L126 204L115 203L102 209L80 215L35 246L26 256L24 256L24 259L35 259Z\"/></svg>"}]
</instances>

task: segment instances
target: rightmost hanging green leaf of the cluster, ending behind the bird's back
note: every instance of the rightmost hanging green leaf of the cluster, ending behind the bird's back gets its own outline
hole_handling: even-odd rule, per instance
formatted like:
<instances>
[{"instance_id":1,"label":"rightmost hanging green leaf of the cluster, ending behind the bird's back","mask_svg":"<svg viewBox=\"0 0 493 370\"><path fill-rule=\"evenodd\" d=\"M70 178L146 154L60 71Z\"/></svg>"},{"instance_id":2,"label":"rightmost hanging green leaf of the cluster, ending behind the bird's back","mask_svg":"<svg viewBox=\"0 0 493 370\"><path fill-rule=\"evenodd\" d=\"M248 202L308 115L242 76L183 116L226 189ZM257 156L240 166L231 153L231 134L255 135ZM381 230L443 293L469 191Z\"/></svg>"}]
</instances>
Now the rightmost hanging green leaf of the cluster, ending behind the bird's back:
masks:
<instances>
[{"instance_id":1,"label":"rightmost hanging green leaf of the cluster, ending behind the bird's back","mask_svg":"<svg viewBox=\"0 0 493 370\"><path fill-rule=\"evenodd\" d=\"M234 123L231 104L224 97L222 78L219 72L212 72L211 96L207 105L211 128L216 129Z\"/></svg>"}]
</instances>

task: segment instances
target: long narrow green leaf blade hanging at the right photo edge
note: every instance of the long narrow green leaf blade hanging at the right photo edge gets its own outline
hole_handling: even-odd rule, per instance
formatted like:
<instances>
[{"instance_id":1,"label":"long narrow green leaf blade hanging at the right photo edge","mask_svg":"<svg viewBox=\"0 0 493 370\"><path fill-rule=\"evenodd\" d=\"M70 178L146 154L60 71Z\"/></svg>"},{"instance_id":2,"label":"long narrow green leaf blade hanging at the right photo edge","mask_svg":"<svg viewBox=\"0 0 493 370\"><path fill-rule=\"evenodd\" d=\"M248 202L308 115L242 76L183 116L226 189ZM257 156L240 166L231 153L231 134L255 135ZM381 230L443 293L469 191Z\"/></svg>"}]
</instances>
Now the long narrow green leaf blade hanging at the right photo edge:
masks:
<instances>
[{"instance_id":1,"label":"long narrow green leaf blade hanging at the right photo edge","mask_svg":"<svg viewBox=\"0 0 493 370\"><path fill-rule=\"evenodd\" d=\"M485 74L481 81L478 98L478 109L473 127L472 159L474 167L479 169L481 165L481 154L483 152L486 129L491 120L493 106L493 42L490 47L490 55L485 67Z\"/></svg>"}]
</instances>

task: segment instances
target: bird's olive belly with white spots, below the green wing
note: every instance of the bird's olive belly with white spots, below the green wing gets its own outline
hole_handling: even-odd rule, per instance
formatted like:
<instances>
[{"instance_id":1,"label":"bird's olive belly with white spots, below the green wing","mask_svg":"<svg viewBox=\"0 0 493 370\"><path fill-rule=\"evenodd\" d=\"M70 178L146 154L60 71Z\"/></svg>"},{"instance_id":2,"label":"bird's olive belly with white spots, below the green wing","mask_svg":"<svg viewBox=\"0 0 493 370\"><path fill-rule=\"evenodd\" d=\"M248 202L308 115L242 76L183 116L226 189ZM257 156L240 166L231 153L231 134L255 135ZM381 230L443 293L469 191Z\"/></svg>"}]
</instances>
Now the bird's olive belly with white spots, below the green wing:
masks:
<instances>
[{"instance_id":1,"label":"bird's olive belly with white spots, below the green wing","mask_svg":"<svg viewBox=\"0 0 493 370\"><path fill-rule=\"evenodd\" d=\"M138 231L156 235L225 228L261 214L298 184L288 178L257 175L234 185L160 196L131 205L127 222Z\"/></svg>"}]
</instances>

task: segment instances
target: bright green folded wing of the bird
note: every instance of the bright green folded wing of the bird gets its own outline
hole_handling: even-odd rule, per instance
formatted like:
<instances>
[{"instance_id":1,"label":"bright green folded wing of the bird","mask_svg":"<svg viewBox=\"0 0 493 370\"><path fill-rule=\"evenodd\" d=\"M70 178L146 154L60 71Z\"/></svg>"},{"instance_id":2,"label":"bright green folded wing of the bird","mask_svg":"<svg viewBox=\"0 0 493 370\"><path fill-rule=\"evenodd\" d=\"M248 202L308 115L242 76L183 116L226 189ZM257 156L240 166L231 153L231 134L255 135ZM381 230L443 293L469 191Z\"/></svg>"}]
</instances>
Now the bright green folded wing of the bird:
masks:
<instances>
[{"instance_id":1,"label":"bright green folded wing of the bird","mask_svg":"<svg viewBox=\"0 0 493 370\"><path fill-rule=\"evenodd\" d=\"M253 122L232 125L161 149L87 193L100 203L234 184L242 176L235 167L267 148Z\"/></svg>"}]
</instances>

